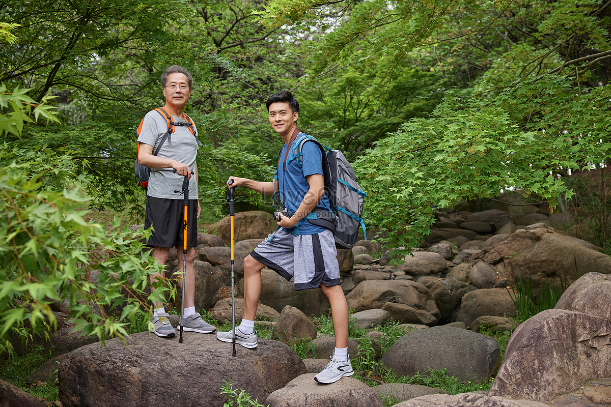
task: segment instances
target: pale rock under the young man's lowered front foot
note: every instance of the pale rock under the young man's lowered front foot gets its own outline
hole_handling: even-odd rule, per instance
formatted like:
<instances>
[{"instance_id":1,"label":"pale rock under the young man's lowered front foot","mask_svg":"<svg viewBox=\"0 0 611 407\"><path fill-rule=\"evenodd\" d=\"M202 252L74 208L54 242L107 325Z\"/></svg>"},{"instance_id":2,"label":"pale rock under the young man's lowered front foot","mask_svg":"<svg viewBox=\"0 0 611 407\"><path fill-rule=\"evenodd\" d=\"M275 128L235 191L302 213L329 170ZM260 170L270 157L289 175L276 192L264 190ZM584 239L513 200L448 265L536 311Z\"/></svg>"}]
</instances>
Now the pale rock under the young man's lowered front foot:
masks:
<instances>
[{"instance_id":1,"label":"pale rock under the young man's lowered front foot","mask_svg":"<svg viewBox=\"0 0 611 407\"><path fill-rule=\"evenodd\" d=\"M362 381L344 377L331 384L318 384L314 374L291 380L266 400L269 407L384 407L378 395Z\"/></svg>"}]
</instances>

